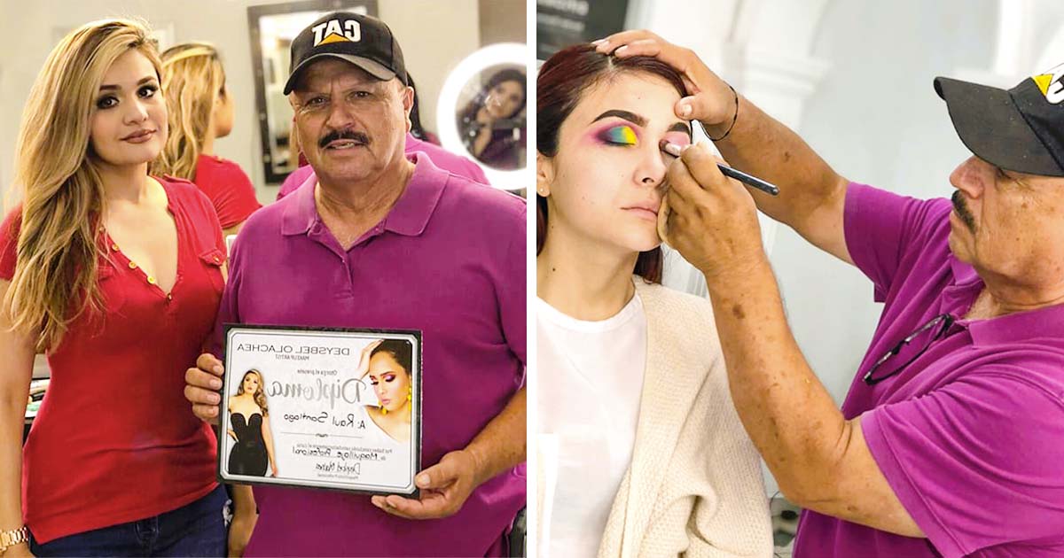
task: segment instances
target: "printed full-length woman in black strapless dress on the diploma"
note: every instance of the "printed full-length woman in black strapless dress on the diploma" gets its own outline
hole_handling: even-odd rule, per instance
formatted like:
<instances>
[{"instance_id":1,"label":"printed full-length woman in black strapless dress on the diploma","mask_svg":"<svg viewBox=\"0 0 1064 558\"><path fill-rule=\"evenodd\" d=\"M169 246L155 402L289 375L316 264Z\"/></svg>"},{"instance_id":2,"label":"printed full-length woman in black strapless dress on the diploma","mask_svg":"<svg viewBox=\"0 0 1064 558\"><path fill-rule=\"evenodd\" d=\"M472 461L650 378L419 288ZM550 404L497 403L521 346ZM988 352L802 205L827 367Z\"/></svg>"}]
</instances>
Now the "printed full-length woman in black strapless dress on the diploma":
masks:
<instances>
[{"instance_id":1,"label":"printed full-length woman in black strapless dress on the diploma","mask_svg":"<svg viewBox=\"0 0 1064 558\"><path fill-rule=\"evenodd\" d=\"M277 476L273 459L273 435L269 430L269 408L263 391L263 375L248 370L229 400L229 436L236 442L229 454L229 471L238 475Z\"/></svg>"}]
</instances>

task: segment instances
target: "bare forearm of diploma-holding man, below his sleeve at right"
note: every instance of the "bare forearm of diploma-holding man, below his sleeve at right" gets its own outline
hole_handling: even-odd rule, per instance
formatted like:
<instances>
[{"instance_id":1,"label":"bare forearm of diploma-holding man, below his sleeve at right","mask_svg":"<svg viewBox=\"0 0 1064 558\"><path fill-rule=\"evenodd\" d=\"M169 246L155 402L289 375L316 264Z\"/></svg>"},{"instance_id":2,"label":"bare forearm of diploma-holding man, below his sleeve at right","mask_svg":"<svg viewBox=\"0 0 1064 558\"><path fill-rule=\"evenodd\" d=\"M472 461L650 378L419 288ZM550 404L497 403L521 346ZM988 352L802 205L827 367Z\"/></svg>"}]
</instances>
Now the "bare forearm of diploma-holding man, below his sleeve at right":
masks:
<instances>
[{"instance_id":1,"label":"bare forearm of diploma-holding man, below his sleeve at right","mask_svg":"<svg viewBox=\"0 0 1064 558\"><path fill-rule=\"evenodd\" d=\"M476 486L523 462L526 439L526 388L521 388L465 447L477 462Z\"/></svg>"}]
</instances>

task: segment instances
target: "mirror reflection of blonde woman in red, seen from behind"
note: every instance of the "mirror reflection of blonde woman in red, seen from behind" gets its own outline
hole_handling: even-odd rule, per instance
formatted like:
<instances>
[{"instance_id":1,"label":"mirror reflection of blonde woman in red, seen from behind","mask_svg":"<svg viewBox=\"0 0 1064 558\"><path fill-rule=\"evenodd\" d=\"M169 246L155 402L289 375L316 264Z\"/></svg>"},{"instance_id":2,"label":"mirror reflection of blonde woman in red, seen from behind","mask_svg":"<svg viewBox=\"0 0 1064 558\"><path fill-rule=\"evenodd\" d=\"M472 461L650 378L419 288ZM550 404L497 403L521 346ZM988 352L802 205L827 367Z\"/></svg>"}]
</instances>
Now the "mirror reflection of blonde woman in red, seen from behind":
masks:
<instances>
[{"instance_id":1,"label":"mirror reflection of blonde woman in red, seen from behind","mask_svg":"<svg viewBox=\"0 0 1064 558\"><path fill-rule=\"evenodd\" d=\"M214 154L214 141L232 132L234 114L218 50L184 43L162 57L170 135L151 172L194 182L214 204L225 234L236 234L262 205L239 165Z\"/></svg>"}]
</instances>

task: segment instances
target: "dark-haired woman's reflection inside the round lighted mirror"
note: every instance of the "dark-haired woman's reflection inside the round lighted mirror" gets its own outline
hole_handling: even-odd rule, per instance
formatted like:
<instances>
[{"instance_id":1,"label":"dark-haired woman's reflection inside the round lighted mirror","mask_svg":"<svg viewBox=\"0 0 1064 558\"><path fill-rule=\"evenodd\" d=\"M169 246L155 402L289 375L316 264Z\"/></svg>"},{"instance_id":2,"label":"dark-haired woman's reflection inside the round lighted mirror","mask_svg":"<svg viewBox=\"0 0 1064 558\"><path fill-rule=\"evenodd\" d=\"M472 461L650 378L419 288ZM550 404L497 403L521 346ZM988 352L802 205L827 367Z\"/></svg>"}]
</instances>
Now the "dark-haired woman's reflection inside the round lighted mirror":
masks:
<instances>
[{"instance_id":1,"label":"dark-haired woman's reflection inside the round lighted mirror","mask_svg":"<svg viewBox=\"0 0 1064 558\"><path fill-rule=\"evenodd\" d=\"M500 64L462 88L455 118L469 155L494 169L525 167L527 83L522 66Z\"/></svg>"}]
</instances>

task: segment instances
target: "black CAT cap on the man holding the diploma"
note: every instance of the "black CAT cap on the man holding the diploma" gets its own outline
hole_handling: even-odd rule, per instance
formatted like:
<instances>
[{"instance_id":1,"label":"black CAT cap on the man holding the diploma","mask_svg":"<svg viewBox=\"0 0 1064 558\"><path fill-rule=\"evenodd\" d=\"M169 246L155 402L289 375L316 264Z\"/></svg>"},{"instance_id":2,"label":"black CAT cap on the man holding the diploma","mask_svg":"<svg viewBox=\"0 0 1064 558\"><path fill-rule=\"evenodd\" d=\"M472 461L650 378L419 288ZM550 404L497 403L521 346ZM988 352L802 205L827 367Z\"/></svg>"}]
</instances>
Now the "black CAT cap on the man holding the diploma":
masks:
<instances>
[{"instance_id":1,"label":"black CAT cap on the man holding the diploma","mask_svg":"<svg viewBox=\"0 0 1064 558\"><path fill-rule=\"evenodd\" d=\"M292 71L284 95L292 92L300 70L330 56L350 62L379 80L398 78L406 83L402 50L392 30L380 19L350 12L326 14L292 41Z\"/></svg>"}]
</instances>

